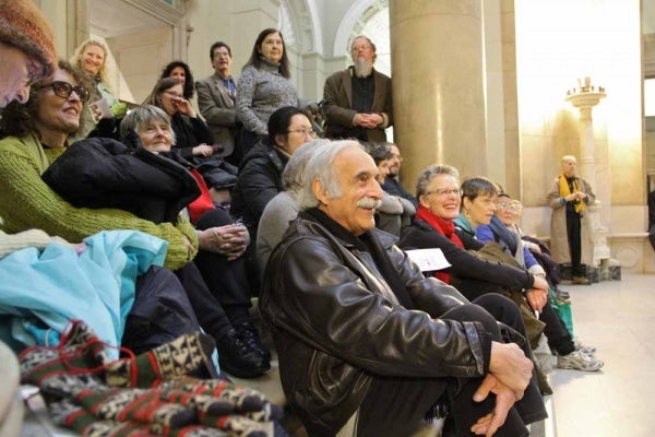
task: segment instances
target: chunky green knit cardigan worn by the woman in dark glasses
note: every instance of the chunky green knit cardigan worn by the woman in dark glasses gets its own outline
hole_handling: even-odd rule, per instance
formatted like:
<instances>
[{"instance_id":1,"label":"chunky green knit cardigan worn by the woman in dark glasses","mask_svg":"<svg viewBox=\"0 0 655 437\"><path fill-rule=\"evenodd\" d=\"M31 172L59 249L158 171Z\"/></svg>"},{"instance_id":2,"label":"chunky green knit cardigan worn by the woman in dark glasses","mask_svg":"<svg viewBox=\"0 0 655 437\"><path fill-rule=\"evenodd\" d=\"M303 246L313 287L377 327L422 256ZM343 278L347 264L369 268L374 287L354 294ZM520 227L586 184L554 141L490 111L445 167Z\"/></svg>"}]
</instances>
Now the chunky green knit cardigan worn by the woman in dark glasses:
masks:
<instances>
[{"instance_id":1,"label":"chunky green knit cardigan worn by the woman in dark glasses","mask_svg":"<svg viewBox=\"0 0 655 437\"><path fill-rule=\"evenodd\" d=\"M64 149L44 150L34 135L0 141L0 216L2 229L13 234L44 229L76 243L105 229L142 231L168 241L165 265L179 269L198 251L195 229L181 217L177 225L155 224L115 209L75 208L41 180L41 174ZM191 241L190 250L184 243Z\"/></svg>"}]
</instances>

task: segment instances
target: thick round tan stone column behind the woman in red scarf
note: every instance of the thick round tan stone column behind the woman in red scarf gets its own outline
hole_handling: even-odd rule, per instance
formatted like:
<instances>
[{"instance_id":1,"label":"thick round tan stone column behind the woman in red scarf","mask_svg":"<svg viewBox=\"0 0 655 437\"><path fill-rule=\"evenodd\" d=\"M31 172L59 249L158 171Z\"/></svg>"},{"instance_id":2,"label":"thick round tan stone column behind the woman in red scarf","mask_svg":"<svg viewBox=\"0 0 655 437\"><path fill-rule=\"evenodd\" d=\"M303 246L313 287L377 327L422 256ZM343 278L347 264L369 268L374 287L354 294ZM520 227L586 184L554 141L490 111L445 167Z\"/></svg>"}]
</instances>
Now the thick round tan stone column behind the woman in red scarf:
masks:
<instances>
[{"instance_id":1,"label":"thick round tan stone column behind the woman in red scarf","mask_svg":"<svg viewBox=\"0 0 655 437\"><path fill-rule=\"evenodd\" d=\"M481 1L390 0L389 13L403 185L431 163L487 174Z\"/></svg>"}]
</instances>

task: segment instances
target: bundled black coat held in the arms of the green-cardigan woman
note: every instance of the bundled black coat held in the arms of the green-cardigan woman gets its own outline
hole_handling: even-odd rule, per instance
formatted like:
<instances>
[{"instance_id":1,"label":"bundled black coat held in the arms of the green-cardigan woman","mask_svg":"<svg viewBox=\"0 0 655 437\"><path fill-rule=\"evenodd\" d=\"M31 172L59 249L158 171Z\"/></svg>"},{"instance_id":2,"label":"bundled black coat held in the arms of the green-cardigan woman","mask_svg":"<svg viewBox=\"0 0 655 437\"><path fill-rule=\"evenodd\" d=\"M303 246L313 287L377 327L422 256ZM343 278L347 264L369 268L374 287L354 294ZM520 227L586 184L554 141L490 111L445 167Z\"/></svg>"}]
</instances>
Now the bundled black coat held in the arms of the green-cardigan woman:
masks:
<instances>
[{"instance_id":1,"label":"bundled black coat held in the arms of the green-cardigan woman","mask_svg":"<svg viewBox=\"0 0 655 437\"><path fill-rule=\"evenodd\" d=\"M141 146L108 138L80 140L43 174L43 179L78 208L116 208L154 223L176 223L200 196L198 182L181 164Z\"/></svg>"}]
</instances>

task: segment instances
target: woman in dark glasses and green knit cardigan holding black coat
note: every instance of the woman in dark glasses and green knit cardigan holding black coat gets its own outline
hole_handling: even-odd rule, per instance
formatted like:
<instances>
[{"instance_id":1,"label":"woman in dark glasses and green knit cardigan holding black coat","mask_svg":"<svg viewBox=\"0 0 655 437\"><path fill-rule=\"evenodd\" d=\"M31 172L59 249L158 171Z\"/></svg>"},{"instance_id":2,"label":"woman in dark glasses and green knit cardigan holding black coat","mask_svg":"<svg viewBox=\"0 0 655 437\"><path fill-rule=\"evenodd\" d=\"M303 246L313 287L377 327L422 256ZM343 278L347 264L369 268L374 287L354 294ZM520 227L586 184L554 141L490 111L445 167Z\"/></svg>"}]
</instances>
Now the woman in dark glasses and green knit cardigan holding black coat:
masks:
<instances>
[{"instance_id":1,"label":"woman in dark glasses and green knit cardigan holding black coat","mask_svg":"<svg viewBox=\"0 0 655 437\"><path fill-rule=\"evenodd\" d=\"M13 102L3 110L0 120L2 228L8 233L39 228L69 241L81 241L103 229L142 231L168 241L167 268L175 270L186 265L195 256L199 244L195 229L187 220L179 218L175 225L156 225L120 210L75 208L41 180L41 174L66 150L68 135L80 128L82 101L88 98L88 92L82 91L85 85L78 70L60 61L51 80L33 86L27 104ZM51 94L59 97L55 104L48 102ZM61 96L64 96L63 104Z\"/></svg>"}]
</instances>

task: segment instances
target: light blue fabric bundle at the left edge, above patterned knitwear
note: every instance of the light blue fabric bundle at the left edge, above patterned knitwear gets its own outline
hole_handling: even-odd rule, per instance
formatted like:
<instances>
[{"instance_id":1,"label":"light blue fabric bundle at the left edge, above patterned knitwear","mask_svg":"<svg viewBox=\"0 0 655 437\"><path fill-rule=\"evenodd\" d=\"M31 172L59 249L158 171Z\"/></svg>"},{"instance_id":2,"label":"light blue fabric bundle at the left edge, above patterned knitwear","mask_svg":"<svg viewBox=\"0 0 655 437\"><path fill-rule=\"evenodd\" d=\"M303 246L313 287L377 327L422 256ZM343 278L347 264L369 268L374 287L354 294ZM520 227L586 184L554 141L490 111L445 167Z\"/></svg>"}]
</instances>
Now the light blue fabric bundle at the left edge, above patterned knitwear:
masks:
<instances>
[{"instance_id":1,"label":"light blue fabric bundle at the left edge, above patterned knitwear","mask_svg":"<svg viewBox=\"0 0 655 437\"><path fill-rule=\"evenodd\" d=\"M168 244L134 231L100 232L84 243L81 255L52 243L43 252L26 248L0 260L0 315L12 316L2 319L11 323L13 344L57 344L70 319L120 344L136 276L164 263ZM110 353L118 357L117 350Z\"/></svg>"}]
</instances>

